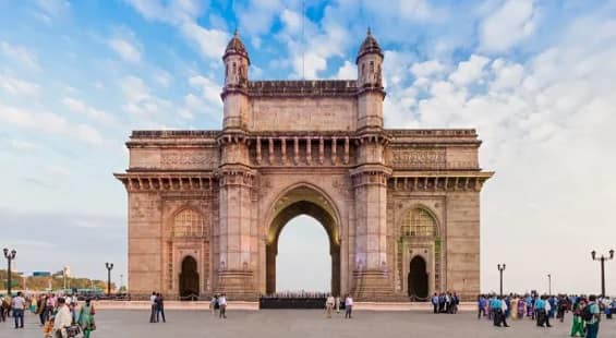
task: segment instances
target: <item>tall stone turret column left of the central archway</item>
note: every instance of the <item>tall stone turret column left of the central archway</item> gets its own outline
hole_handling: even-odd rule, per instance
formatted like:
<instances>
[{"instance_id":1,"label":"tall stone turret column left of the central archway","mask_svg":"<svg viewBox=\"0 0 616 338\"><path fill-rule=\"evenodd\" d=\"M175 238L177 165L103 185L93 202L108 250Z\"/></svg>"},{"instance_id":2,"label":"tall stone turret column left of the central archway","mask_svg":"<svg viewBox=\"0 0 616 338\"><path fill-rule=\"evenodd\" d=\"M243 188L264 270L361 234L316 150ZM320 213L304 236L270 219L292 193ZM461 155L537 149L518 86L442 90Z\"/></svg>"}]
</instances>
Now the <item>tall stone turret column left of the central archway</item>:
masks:
<instances>
[{"instance_id":1,"label":"tall stone turret column left of the central archway","mask_svg":"<svg viewBox=\"0 0 616 338\"><path fill-rule=\"evenodd\" d=\"M255 170L249 158L249 53L238 32L227 45L225 56L225 105L222 133L218 136L220 166L219 234L217 241L217 292L233 299L255 299L257 264L256 221L251 195Z\"/></svg>"}]
</instances>

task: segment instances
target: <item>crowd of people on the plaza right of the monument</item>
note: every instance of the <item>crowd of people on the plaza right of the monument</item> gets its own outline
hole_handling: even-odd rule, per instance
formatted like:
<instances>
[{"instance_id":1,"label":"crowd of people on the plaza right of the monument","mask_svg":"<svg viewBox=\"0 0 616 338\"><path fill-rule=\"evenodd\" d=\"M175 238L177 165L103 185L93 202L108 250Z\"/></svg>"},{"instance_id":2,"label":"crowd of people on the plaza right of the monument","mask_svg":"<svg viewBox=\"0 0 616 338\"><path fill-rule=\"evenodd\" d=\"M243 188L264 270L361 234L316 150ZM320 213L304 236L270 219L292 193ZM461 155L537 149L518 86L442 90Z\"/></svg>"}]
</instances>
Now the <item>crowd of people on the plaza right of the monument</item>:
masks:
<instances>
[{"instance_id":1,"label":"crowd of people on the plaza right of the monument","mask_svg":"<svg viewBox=\"0 0 616 338\"><path fill-rule=\"evenodd\" d=\"M529 294L496 295L481 294L478 297L478 319L487 318L494 326L508 327L507 319L534 321L539 327L552 327L549 319L565 321L565 315L571 312L571 337L594 338L599 331L601 314L611 319L616 313L616 299L595 295L540 295Z\"/></svg>"}]
</instances>

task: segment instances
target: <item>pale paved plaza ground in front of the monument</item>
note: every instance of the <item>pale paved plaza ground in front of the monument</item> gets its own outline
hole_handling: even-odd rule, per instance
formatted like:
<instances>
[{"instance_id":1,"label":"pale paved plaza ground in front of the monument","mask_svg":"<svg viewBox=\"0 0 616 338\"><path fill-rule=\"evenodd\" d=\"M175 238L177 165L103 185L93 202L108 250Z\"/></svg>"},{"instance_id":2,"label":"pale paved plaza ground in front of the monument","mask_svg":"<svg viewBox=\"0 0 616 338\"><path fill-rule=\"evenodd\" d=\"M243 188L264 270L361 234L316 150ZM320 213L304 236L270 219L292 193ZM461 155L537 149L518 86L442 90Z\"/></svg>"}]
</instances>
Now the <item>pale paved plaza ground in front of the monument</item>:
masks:
<instances>
[{"instance_id":1,"label":"pale paved plaza ground in front of the monument","mask_svg":"<svg viewBox=\"0 0 616 338\"><path fill-rule=\"evenodd\" d=\"M358 311L353 319L335 315L326 319L318 310L231 311L227 319L204 311L168 311L167 323L149 324L147 311L100 310L98 330L93 337L153 338L252 338L252 337L569 337L570 319L539 328L531 321L511 322L510 328L497 328L488 321L478 321L471 312L435 315L425 312ZM11 318L12 319L12 318ZM600 337L616 337L616 319L603 321ZM24 329L13 329L12 322L0 323L0 337L43 337L34 315L27 315Z\"/></svg>"}]
</instances>

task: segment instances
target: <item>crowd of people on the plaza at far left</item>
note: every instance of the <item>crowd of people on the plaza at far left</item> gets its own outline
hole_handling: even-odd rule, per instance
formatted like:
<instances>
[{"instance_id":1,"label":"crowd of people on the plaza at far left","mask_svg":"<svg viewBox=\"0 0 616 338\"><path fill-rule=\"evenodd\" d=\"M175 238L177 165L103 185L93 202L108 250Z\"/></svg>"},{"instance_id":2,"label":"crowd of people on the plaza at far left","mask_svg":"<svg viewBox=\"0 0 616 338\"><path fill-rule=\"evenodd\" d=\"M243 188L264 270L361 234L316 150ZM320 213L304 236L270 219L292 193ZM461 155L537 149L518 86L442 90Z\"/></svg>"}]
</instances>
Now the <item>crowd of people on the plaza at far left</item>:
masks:
<instances>
[{"instance_id":1,"label":"crowd of people on the plaza at far left","mask_svg":"<svg viewBox=\"0 0 616 338\"><path fill-rule=\"evenodd\" d=\"M77 312L78 309L78 312ZM41 293L38 295L24 295L17 292L15 297L0 297L0 322L13 317L15 329L24 327L24 314L29 311L38 316L45 337L68 338L83 333L89 338L96 330L94 321L94 304L89 299L77 307L75 294Z\"/></svg>"}]
</instances>

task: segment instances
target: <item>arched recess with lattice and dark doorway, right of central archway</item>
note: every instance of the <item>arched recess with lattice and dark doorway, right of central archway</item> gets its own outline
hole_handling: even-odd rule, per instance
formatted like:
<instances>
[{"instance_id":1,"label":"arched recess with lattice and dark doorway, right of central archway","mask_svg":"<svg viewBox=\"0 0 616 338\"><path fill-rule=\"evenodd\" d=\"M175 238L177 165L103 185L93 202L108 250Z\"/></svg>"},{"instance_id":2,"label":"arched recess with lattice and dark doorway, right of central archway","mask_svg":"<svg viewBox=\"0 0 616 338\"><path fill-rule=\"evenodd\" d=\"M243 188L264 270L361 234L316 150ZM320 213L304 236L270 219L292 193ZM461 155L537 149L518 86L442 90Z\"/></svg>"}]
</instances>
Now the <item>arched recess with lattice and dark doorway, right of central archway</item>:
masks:
<instances>
[{"instance_id":1,"label":"arched recess with lattice and dark doorway, right of central archway","mask_svg":"<svg viewBox=\"0 0 616 338\"><path fill-rule=\"evenodd\" d=\"M399 285L399 290L404 290L404 293L414 295L413 299L415 300L419 300L420 297L419 294L411 293L411 289L416 289L418 285L413 287L411 282L421 280L423 286L424 276L426 277L427 293L432 291L438 292L443 288L443 244L440 233L438 218L430 207L415 204L401 214L397 257L398 278L402 281ZM421 269L411 270L411 258L422 259L425 265L425 273L420 271ZM419 264L416 262L415 264ZM413 273L419 274L416 279L415 276L412 276Z\"/></svg>"}]
</instances>

